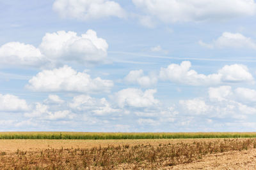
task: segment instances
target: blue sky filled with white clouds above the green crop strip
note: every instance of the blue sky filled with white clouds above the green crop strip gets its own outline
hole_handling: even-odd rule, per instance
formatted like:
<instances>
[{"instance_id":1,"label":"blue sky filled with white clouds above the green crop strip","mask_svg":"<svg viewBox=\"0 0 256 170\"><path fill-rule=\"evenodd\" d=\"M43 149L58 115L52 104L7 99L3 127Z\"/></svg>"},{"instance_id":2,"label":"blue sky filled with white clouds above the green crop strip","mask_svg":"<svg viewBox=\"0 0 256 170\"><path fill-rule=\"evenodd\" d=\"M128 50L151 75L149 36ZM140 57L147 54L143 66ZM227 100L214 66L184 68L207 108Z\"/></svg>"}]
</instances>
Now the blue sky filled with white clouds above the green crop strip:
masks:
<instances>
[{"instance_id":1,"label":"blue sky filled with white clouds above the green crop strip","mask_svg":"<svg viewBox=\"0 0 256 170\"><path fill-rule=\"evenodd\" d=\"M0 131L250 132L254 0L0 0Z\"/></svg>"}]
</instances>

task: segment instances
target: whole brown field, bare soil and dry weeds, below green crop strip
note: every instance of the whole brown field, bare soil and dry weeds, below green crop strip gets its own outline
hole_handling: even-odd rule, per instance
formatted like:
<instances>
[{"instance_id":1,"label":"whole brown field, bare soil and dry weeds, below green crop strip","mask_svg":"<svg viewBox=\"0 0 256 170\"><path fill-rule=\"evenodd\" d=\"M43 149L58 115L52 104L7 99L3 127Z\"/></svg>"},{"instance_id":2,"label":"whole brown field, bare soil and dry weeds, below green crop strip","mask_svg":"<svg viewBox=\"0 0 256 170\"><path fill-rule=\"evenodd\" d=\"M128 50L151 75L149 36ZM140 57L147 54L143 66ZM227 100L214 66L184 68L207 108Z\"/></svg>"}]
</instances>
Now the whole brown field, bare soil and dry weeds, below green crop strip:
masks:
<instances>
[{"instance_id":1,"label":"whole brown field, bare soil and dry weeds, below green crop strip","mask_svg":"<svg viewBox=\"0 0 256 170\"><path fill-rule=\"evenodd\" d=\"M256 139L1 139L0 169L256 169Z\"/></svg>"}]
</instances>

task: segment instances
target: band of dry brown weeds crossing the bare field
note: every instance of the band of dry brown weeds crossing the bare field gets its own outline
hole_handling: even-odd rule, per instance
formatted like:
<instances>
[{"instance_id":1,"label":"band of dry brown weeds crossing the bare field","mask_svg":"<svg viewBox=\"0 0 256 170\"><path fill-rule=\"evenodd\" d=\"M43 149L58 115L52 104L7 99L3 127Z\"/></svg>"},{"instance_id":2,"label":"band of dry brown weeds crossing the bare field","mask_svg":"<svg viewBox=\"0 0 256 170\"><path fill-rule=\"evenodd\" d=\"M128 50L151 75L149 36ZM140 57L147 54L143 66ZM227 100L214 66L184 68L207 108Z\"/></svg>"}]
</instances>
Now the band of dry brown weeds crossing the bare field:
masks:
<instances>
[{"instance_id":1,"label":"band of dry brown weeds crossing the bare field","mask_svg":"<svg viewBox=\"0 0 256 170\"><path fill-rule=\"evenodd\" d=\"M17 150L0 152L0 169L157 169L202 159L204 155L256 148L255 139L224 139L152 145Z\"/></svg>"}]
</instances>

